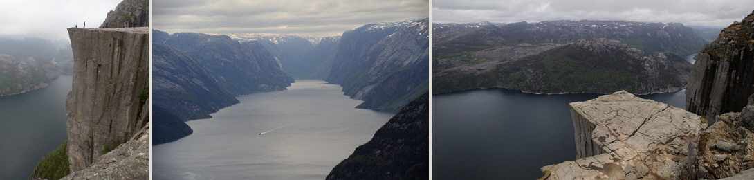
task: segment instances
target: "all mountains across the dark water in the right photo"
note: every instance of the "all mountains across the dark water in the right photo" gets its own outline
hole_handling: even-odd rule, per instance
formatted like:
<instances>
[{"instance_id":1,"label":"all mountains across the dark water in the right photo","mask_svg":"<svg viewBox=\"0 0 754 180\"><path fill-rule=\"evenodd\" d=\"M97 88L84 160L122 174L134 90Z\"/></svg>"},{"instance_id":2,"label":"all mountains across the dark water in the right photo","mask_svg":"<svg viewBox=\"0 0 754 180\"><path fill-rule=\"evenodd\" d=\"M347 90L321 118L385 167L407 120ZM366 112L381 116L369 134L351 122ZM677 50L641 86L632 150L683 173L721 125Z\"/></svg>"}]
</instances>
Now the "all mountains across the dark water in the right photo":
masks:
<instances>
[{"instance_id":1,"label":"all mountains across the dark water in the right photo","mask_svg":"<svg viewBox=\"0 0 754 180\"><path fill-rule=\"evenodd\" d=\"M434 93L663 93L685 88L707 40L681 23L570 21L433 26Z\"/></svg>"}]
</instances>

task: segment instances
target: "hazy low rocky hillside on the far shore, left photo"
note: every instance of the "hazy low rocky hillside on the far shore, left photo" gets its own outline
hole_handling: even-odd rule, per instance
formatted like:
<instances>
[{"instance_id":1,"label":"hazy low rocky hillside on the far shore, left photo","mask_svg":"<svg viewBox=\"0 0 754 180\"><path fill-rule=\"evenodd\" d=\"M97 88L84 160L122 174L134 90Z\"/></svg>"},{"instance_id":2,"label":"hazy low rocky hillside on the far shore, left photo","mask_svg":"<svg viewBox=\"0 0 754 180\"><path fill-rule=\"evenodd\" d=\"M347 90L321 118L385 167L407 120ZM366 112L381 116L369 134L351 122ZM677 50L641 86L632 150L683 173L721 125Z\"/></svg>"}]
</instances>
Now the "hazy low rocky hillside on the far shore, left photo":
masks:
<instances>
[{"instance_id":1,"label":"hazy low rocky hillside on the far shore, left photo","mask_svg":"<svg viewBox=\"0 0 754 180\"><path fill-rule=\"evenodd\" d=\"M47 87L62 73L63 69L48 59L16 59L0 53L0 96Z\"/></svg>"}]
</instances>

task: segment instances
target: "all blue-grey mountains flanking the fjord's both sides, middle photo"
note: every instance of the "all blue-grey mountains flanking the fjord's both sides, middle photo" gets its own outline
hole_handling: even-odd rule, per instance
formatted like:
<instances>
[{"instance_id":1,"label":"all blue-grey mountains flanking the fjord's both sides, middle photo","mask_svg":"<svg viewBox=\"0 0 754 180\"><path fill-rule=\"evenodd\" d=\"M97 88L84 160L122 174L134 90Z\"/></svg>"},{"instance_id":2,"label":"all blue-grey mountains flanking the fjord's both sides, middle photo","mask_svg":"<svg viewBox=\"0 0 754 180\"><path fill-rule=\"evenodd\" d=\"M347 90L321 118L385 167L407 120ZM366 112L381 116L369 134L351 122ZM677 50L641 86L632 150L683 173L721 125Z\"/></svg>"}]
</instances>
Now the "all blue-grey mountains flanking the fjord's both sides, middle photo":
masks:
<instances>
[{"instance_id":1,"label":"all blue-grey mountains flanking the fjord's both sides, middle photo","mask_svg":"<svg viewBox=\"0 0 754 180\"><path fill-rule=\"evenodd\" d=\"M293 72L341 84L346 95L364 100L357 108L379 111L398 111L429 88L428 19L368 24L342 37L309 39L233 35L241 42L228 35L152 34L154 105L171 120L210 117L238 103L233 96L286 90ZM155 119L155 138L161 142L191 132L182 123L161 126L176 123L161 121Z\"/></svg>"}]
</instances>

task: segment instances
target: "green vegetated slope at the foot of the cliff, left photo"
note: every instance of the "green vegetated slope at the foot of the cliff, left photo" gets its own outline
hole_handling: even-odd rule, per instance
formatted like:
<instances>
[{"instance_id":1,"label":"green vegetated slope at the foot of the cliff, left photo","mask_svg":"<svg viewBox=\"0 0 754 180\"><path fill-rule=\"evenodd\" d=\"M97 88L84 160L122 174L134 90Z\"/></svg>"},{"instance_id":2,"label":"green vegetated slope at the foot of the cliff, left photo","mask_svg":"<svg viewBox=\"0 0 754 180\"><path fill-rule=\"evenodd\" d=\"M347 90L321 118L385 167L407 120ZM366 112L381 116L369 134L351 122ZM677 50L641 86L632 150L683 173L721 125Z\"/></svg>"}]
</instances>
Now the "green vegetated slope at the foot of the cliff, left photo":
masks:
<instances>
[{"instance_id":1,"label":"green vegetated slope at the foot of the cliff, left photo","mask_svg":"<svg viewBox=\"0 0 754 180\"><path fill-rule=\"evenodd\" d=\"M66 147L68 147L67 139L55 151L42 157L42 161L34 168L31 178L60 179L70 174Z\"/></svg>"}]
</instances>

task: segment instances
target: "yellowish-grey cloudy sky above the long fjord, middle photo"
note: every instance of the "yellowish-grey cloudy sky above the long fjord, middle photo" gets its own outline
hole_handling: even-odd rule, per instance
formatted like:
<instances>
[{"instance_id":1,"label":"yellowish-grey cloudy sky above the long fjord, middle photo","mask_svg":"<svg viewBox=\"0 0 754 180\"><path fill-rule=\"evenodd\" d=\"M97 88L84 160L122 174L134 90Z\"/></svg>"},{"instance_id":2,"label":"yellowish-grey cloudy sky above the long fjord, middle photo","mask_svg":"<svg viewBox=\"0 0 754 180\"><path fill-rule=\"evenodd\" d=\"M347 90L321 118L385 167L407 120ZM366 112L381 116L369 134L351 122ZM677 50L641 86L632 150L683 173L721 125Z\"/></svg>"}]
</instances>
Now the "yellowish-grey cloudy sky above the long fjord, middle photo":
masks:
<instances>
[{"instance_id":1,"label":"yellowish-grey cloudy sky above the long fjord, middle photo","mask_svg":"<svg viewBox=\"0 0 754 180\"><path fill-rule=\"evenodd\" d=\"M429 16L428 0L154 0L152 25L170 34L342 35L367 23Z\"/></svg>"}]
</instances>

